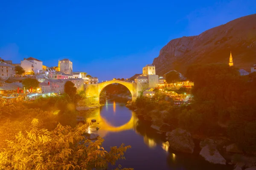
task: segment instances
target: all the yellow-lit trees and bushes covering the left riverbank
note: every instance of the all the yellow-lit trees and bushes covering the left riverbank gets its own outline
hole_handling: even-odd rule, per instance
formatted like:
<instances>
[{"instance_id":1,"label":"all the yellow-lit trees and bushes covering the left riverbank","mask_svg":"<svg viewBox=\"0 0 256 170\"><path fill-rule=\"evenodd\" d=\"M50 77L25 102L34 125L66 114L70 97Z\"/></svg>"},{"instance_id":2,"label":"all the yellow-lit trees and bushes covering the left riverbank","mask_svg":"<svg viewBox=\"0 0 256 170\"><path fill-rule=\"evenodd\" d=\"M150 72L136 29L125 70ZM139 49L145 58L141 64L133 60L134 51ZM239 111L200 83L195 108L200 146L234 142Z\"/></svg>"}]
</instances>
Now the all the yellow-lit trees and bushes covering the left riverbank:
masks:
<instances>
[{"instance_id":1,"label":"all the yellow-lit trees and bushes covering the left riverbank","mask_svg":"<svg viewBox=\"0 0 256 170\"><path fill-rule=\"evenodd\" d=\"M6 105L0 98L0 169L107 169L109 164L125 159L124 153L131 146L122 144L107 151L102 147L104 139L88 140L88 124L77 125L75 109L77 100L85 95L74 94L73 85L68 85L70 94L34 102Z\"/></svg>"}]
</instances>

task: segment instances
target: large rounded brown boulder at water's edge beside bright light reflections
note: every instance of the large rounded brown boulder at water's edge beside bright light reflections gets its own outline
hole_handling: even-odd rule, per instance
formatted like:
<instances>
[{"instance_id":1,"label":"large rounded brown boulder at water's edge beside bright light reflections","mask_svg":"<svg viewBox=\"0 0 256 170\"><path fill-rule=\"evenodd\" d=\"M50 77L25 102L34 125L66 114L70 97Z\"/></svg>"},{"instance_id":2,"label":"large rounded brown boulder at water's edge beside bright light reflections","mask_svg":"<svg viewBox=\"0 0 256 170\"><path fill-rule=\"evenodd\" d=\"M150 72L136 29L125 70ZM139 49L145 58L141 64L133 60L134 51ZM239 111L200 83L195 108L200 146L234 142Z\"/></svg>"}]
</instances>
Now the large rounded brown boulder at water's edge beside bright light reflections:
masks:
<instances>
[{"instance_id":1,"label":"large rounded brown boulder at water's edge beside bright light reflections","mask_svg":"<svg viewBox=\"0 0 256 170\"><path fill-rule=\"evenodd\" d=\"M173 150L183 153L193 153L195 144L188 131L177 128L172 130L172 132L166 132L166 136Z\"/></svg>"}]
</instances>

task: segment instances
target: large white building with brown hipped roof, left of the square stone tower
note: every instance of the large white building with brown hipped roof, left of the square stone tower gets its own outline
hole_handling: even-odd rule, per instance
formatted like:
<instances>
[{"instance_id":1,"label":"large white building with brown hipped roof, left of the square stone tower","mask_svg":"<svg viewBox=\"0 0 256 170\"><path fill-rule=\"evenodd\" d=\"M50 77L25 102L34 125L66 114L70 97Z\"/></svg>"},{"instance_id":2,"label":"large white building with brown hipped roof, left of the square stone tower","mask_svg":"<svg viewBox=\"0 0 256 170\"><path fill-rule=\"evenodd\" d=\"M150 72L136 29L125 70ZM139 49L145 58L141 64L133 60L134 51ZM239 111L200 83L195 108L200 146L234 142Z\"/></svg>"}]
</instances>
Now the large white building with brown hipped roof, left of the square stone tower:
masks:
<instances>
[{"instance_id":1,"label":"large white building with brown hipped roof, left of the square stone tower","mask_svg":"<svg viewBox=\"0 0 256 170\"><path fill-rule=\"evenodd\" d=\"M31 72L39 73L40 70L43 70L43 62L33 57L24 58L23 61L20 61L20 65L26 74Z\"/></svg>"}]
</instances>

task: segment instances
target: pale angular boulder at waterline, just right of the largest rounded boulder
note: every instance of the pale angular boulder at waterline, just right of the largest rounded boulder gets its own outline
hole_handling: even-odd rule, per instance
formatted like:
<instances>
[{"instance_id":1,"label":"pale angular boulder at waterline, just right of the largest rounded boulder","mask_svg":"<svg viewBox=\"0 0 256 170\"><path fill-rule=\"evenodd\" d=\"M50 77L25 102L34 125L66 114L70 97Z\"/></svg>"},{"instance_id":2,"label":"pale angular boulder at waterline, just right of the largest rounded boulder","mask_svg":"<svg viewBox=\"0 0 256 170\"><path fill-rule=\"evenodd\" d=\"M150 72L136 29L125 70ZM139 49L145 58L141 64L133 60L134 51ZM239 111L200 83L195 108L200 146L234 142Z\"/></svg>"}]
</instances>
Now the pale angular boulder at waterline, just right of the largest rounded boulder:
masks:
<instances>
[{"instance_id":1,"label":"pale angular boulder at waterline, just right of the largest rounded boulder","mask_svg":"<svg viewBox=\"0 0 256 170\"><path fill-rule=\"evenodd\" d=\"M226 164L226 160L221 156L216 148L216 144L206 144L199 153L206 161L213 164Z\"/></svg>"}]
</instances>

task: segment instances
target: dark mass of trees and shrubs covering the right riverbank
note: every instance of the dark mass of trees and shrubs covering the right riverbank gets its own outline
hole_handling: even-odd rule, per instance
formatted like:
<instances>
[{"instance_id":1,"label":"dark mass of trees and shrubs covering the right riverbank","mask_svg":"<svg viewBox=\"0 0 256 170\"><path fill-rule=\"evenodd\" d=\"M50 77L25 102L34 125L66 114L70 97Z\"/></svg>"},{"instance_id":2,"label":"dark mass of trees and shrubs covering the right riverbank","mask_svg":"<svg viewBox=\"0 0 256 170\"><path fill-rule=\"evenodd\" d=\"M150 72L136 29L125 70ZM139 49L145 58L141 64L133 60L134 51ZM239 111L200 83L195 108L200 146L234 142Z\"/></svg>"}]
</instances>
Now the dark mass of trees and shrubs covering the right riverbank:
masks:
<instances>
[{"instance_id":1,"label":"dark mass of trees and shrubs covering the right riverbank","mask_svg":"<svg viewBox=\"0 0 256 170\"><path fill-rule=\"evenodd\" d=\"M170 106L140 96L136 105L147 111L169 111L164 123L204 136L227 135L244 151L256 150L256 73L240 76L229 65L192 65L186 77L194 82L190 105ZM152 108L152 109L151 109Z\"/></svg>"}]
</instances>

